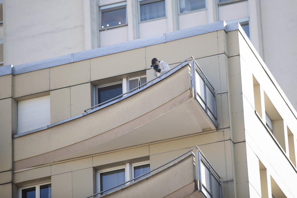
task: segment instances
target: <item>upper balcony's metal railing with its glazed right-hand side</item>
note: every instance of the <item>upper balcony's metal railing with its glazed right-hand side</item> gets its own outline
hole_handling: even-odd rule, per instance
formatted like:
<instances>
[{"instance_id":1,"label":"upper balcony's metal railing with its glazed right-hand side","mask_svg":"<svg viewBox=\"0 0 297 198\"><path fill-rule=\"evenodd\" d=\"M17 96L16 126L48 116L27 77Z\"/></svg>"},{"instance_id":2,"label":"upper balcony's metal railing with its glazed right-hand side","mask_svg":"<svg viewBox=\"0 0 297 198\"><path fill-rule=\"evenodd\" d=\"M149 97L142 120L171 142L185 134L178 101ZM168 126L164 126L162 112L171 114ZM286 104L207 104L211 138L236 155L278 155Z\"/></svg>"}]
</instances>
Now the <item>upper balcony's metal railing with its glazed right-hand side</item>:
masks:
<instances>
[{"instance_id":1,"label":"upper balcony's metal railing with its glazed right-hand side","mask_svg":"<svg viewBox=\"0 0 297 198\"><path fill-rule=\"evenodd\" d=\"M110 100L104 101L98 105L92 106L88 109L85 109L84 112L87 112L88 110L93 110L98 107L105 107L107 105L111 105L117 101L122 100L123 98L129 97L132 94L136 93L136 90L141 90L146 87L150 83L154 83L157 80L160 80L162 78L167 77L169 74L177 71L180 67L183 67L185 65L189 64L192 67L192 75L191 75L191 82L192 87L194 89L194 97L195 100L198 102L198 104L201 106L201 108L204 110L205 114L210 118L212 123L217 127L217 102L216 102L216 93L214 91L213 86L210 84L210 81L207 79L207 77L204 75L203 71L199 67L198 63L195 61L194 57L191 56L181 63L179 63L177 66L171 68L169 71L166 71L165 73L159 75L158 77L154 78L153 80L150 80L134 89L131 89L130 91L123 93L117 97L114 97ZM133 93L134 92L134 93Z\"/></svg>"}]
</instances>

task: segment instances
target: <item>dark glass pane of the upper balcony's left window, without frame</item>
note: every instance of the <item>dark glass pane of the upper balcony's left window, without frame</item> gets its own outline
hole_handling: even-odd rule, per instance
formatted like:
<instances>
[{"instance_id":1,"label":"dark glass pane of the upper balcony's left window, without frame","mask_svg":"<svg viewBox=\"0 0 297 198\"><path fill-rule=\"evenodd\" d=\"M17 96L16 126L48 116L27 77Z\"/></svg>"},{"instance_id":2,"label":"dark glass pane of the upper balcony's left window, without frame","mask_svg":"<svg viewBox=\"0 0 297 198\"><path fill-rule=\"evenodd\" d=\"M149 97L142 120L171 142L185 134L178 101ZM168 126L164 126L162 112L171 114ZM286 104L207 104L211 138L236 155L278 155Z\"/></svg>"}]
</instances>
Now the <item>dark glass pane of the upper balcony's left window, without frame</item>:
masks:
<instances>
[{"instance_id":1,"label":"dark glass pane of the upper balcony's left window, without frame","mask_svg":"<svg viewBox=\"0 0 297 198\"><path fill-rule=\"evenodd\" d=\"M122 84L115 84L108 87L98 88L98 104L117 97L122 93Z\"/></svg>"}]
</instances>

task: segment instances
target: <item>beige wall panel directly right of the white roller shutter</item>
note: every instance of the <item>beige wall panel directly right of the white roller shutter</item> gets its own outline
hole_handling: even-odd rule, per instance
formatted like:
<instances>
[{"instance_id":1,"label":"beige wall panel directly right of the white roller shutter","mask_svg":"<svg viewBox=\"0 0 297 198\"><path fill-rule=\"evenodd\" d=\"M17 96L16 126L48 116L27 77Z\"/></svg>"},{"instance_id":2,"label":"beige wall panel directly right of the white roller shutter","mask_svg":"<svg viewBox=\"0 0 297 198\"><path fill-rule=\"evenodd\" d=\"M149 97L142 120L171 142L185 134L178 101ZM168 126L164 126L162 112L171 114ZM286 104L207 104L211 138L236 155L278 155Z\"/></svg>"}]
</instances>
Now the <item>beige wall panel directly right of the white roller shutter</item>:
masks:
<instances>
[{"instance_id":1,"label":"beige wall panel directly right of the white roller shutter","mask_svg":"<svg viewBox=\"0 0 297 198\"><path fill-rule=\"evenodd\" d=\"M50 123L71 117L70 87L50 91Z\"/></svg>"}]
</instances>

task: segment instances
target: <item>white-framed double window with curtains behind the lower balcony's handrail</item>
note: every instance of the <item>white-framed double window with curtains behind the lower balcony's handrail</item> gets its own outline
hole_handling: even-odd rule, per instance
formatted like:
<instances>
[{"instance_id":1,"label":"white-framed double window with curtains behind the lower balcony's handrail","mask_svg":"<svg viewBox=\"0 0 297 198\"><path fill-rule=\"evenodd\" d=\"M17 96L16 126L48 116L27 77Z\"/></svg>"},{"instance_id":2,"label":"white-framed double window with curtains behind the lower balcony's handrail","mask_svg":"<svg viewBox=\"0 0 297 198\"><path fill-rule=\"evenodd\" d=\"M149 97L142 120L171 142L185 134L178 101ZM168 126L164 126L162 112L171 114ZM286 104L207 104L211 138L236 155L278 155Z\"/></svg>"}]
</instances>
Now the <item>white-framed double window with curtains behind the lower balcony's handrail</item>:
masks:
<instances>
[{"instance_id":1,"label":"white-framed double window with curtains behind the lower balcony's handrail","mask_svg":"<svg viewBox=\"0 0 297 198\"><path fill-rule=\"evenodd\" d=\"M149 172L149 170L150 168L149 168L148 161L138 162L133 164L127 163L126 165L123 165L123 166L118 166L118 167L104 169L104 170L97 170L97 192L107 190L121 183L129 181L134 177L138 177L144 173ZM131 171L131 174L130 174L130 171ZM146 175L144 175L143 177L145 176ZM116 187L114 189L111 189L109 191L103 192L101 193L101 195L123 186L125 186L125 184L119 187Z\"/></svg>"}]
</instances>

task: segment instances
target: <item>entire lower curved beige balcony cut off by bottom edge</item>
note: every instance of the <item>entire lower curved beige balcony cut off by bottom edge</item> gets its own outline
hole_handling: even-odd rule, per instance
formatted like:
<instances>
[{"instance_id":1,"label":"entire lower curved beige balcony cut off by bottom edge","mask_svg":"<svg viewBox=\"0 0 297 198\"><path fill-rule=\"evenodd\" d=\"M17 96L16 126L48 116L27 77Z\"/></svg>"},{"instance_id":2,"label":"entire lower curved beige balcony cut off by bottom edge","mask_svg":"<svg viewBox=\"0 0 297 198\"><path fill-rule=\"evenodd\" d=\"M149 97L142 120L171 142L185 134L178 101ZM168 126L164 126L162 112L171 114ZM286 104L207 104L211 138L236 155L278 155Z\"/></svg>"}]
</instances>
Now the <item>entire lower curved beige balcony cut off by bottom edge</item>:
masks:
<instances>
[{"instance_id":1,"label":"entire lower curved beige balcony cut off by bottom edge","mask_svg":"<svg viewBox=\"0 0 297 198\"><path fill-rule=\"evenodd\" d=\"M193 153L197 150L196 154ZM149 174L149 175L148 175ZM134 179L145 176L134 182ZM126 186L123 186L125 185ZM116 190L108 192L116 187ZM187 197L222 198L222 182L198 147L194 147L165 164L86 198L99 197Z\"/></svg>"}]
</instances>

